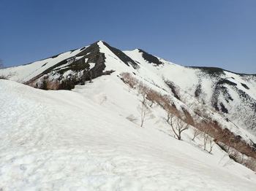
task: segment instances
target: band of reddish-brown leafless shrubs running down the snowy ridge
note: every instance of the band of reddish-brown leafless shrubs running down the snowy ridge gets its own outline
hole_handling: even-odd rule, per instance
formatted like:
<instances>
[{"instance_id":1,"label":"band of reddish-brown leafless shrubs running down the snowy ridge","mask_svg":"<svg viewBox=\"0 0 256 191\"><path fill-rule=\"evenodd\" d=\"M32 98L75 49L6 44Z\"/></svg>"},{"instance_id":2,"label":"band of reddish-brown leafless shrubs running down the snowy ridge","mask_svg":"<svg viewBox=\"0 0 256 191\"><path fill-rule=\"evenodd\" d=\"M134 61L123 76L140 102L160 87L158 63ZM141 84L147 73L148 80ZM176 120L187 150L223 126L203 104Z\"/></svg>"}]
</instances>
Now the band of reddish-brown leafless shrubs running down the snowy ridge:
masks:
<instances>
[{"instance_id":1,"label":"band of reddish-brown leafless shrubs running down the snowy ridge","mask_svg":"<svg viewBox=\"0 0 256 191\"><path fill-rule=\"evenodd\" d=\"M224 144L225 147L236 149L241 153L241 155L248 156L250 160L237 160L235 155L236 152L229 153L228 150L225 149L225 151L230 155L230 158L256 171L256 152L252 145L242 140L241 136L236 136L227 128L223 128L217 121L212 120L208 114L208 112L211 111L208 111L203 104L202 108L199 108L198 106L196 107L196 116L192 117L187 111L183 111L183 113L178 111L175 104L170 101L169 96L161 95L157 91L152 90L135 77L132 77L132 74L122 73L121 80L129 85L129 87L138 89L140 94L143 95L142 104L146 104L146 102L148 103L149 101L149 106L158 104L167 111L167 122L173 129L173 133L177 139L181 140L181 133L184 130L187 130L189 125L192 125L195 128L192 140L194 141L195 137L201 134L204 142L203 147L209 153L212 152L215 143L218 145ZM175 125L173 120L177 120Z\"/></svg>"}]
</instances>

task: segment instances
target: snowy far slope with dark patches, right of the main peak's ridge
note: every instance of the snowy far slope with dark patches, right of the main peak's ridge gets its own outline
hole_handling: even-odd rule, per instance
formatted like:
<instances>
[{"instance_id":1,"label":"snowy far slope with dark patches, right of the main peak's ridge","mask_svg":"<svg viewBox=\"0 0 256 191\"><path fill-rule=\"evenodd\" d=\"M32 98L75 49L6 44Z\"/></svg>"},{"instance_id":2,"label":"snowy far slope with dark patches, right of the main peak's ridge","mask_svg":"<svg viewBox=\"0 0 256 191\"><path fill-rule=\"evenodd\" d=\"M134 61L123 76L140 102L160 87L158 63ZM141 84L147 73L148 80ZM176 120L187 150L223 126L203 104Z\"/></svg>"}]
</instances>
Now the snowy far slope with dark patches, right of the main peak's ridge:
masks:
<instances>
[{"instance_id":1,"label":"snowy far slope with dark patches, right of the main peak's ridge","mask_svg":"<svg viewBox=\"0 0 256 191\"><path fill-rule=\"evenodd\" d=\"M171 82L184 104L194 109L198 104L207 105L208 109L233 122L233 128L247 131L248 136L244 137L256 140L255 75L234 74L217 68L184 67L161 58L158 59L163 64L156 66L146 61L138 49L124 52L140 63L141 77L165 89L168 88L165 82Z\"/></svg>"}]
</instances>

